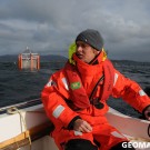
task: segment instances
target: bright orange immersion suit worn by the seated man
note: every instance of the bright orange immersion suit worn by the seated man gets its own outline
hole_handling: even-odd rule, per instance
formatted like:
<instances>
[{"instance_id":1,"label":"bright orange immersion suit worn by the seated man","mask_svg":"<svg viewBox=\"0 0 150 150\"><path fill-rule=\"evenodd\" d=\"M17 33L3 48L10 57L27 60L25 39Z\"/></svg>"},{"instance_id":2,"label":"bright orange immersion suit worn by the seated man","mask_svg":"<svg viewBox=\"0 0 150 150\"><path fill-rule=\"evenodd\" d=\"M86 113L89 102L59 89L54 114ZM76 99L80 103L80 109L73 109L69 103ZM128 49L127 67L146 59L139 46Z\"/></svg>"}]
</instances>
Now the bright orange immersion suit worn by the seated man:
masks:
<instances>
[{"instance_id":1,"label":"bright orange immersion suit worn by the seated man","mask_svg":"<svg viewBox=\"0 0 150 150\"><path fill-rule=\"evenodd\" d=\"M121 141L128 141L126 137L108 123L104 117L109 109L107 106L108 94L113 98L122 98L140 112L150 104L150 99L134 81L122 76L113 67L110 67L110 76L113 77L113 80L106 83L104 79L111 78L107 77L109 72L104 73L103 63L107 61L102 61L102 52L92 64L82 62L76 54L73 54L73 59L76 60L73 68L78 69L78 74L72 73L71 79L68 77L71 73L67 73L67 70L72 72L73 68L71 70L64 67L51 76L41 93L47 116L56 127L51 136L58 148L63 150L64 144L70 139L87 139L93 144L100 143L100 146L97 144L99 150L109 150ZM102 74L104 74L104 79L99 82L92 100L88 102L87 98L91 96ZM73 78L73 76L78 77ZM108 84L107 88L110 88L109 93L104 92L104 83ZM80 97L77 96L78 93L80 93ZM78 103L76 99L81 100L82 104ZM89 122L92 132L74 131L71 124L78 118Z\"/></svg>"}]
</instances>

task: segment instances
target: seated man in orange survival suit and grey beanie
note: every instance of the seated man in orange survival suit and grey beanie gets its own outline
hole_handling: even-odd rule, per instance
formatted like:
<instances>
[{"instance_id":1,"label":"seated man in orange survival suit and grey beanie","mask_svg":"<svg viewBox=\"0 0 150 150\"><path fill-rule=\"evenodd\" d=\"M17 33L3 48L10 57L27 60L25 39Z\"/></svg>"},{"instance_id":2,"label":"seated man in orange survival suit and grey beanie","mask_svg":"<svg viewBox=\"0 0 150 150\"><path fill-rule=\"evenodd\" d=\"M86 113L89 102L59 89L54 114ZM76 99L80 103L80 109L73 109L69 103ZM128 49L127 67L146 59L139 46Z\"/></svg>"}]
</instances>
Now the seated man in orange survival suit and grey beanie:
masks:
<instances>
[{"instance_id":1,"label":"seated man in orange survival suit and grey beanie","mask_svg":"<svg viewBox=\"0 0 150 150\"><path fill-rule=\"evenodd\" d=\"M121 97L148 120L150 99L138 83L113 68L97 30L79 33L74 48L71 60L51 76L41 93L54 124L51 136L59 150L124 149L122 142L128 140L104 117L107 99Z\"/></svg>"}]
</instances>

